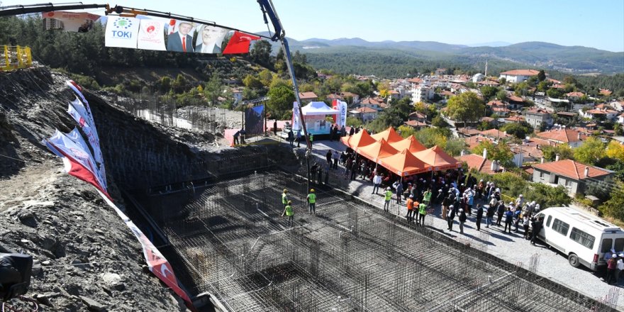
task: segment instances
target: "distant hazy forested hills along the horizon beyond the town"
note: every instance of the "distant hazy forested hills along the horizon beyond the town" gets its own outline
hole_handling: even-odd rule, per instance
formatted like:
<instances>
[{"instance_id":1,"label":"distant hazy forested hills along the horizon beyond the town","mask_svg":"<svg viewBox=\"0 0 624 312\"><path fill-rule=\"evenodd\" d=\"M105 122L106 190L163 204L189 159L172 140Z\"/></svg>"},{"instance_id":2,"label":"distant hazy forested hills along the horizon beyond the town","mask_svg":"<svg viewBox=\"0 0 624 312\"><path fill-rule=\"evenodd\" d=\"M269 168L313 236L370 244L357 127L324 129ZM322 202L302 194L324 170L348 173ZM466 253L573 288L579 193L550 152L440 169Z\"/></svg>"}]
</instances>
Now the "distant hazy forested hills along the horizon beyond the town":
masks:
<instances>
[{"instance_id":1,"label":"distant hazy forested hills along the horizon beyond the town","mask_svg":"<svg viewBox=\"0 0 624 312\"><path fill-rule=\"evenodd\" d=\"M339 72L348 72L349 69L347 65L335 67L334 63L349 62L350 57L345 59L345 56L350 56L354 52L361 52L359 55L362 55L362 53L378 53L380 54L379 60L389 61L391 62L390 64L393 64L393 60L386 59L383 55L394 54L394 56L399 57L401 62L406 63L406 66L392 66L394 70L385 69L384 67L379 67L380 70L366 68L370 70L368 74L394 77L406 74L406 71L411 70L414 64L418 64L418 62L423 60L446 64L448 65L446 67L454 67L452 65L455 65L455 67L474 65L481 71L483 71L484 66L479 63L489 60L489 65L492 62L495 64L494 67L489 67L489 69L492 69L489 72L493 74L497 73L497 69L506 70L511 67L550 69L550 71L558 70L572 74L614 74L624 72L624 52L610 52L595 48L570 47L542 42L517 43L501 47L469 47L432 41L396 42L386 40L369 42L361 38L333 40L321 38L294 40L289 38L289 43L292 50L301 50L301 52L306 52L306 54L310 55L308 60L311 60L312 65L335 69ZM316 56L319 54L322 55ZM330 60L331 57L335 57L337 60ZM409 60L414 57L418 58L418 60ZM330 67L328 64L332 64L332 66ZM496 65L501 65L501 68L496 68ZM353 69L352 72L357 72L357 69L364 68L358 65Z\"/></svg>"}]
</instances>

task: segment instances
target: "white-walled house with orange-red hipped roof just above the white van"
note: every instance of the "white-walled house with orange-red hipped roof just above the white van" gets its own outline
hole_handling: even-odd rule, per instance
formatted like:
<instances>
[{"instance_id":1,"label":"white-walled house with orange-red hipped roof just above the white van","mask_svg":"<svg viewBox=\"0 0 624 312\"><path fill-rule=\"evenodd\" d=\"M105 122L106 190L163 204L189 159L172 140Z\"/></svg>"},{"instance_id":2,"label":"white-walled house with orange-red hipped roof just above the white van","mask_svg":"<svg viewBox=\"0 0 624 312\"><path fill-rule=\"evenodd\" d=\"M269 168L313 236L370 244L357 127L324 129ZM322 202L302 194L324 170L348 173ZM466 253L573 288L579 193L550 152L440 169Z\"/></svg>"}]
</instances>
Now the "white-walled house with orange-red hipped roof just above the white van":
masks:
<instances>
[{"instance_id":1,"label":"white-walled house with orange-red hipped roof just above the white van","mask_svg":"<svg viewBox=\"0 0 624 312\"><path fill-rule=\"evenodd\" d=\"M568 194L584 194L587 182L600 182L613 176L613 171L584 165L574 160L559 160L533 165L533 182L564 186Z\"/></svg>"}]
</instances>

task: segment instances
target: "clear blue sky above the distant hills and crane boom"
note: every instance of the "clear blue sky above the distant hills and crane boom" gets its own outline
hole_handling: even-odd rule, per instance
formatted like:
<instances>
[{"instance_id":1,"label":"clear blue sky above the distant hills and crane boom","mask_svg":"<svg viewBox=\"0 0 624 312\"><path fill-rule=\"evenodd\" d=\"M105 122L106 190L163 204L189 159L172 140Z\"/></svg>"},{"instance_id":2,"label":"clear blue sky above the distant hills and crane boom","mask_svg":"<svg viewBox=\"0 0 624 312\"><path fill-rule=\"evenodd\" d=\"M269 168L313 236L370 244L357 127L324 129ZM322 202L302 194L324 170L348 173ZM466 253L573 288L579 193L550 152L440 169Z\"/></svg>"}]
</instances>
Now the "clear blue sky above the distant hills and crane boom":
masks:
<instances>
[{"instance_id":1,"label":"clear blue sky above the distant hills and crane boom","mask_svg":"<svg viewBox=\"0 0 624 312\"><path fill-rule=\"evenodd\" d=\"M1 2L9 6L26 1ZM128 0L110 4L177 13L243 30L266 30L255 0ZM296 40L358 37L466 45L545 41L624 51L623 0L273 0L273 4L286 35Z\"/></svg>"}]
</instances>

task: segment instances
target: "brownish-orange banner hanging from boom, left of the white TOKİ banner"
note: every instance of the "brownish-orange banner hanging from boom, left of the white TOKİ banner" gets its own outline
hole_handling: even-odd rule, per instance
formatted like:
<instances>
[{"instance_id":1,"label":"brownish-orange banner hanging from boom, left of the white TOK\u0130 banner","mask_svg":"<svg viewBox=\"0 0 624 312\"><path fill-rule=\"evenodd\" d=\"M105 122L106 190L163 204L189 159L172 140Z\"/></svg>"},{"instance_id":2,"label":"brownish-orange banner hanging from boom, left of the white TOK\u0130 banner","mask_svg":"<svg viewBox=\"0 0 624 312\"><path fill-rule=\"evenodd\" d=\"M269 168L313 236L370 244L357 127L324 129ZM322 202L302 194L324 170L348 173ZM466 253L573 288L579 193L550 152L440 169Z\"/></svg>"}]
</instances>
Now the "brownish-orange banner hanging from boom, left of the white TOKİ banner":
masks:
<instances>
[{"instance_id":1,"label":"brownish-orange banner hanging from boom, left of the white TOK\u0130 banner","mask_svg":"<svg viewBox=\"0 0 624 312\"><path fill-rule=\"evenodd\" d=\"M60 29L87 33L101 16L86 12L52 11L41 13L45 30Z\"/></svg>"}]
</instances>

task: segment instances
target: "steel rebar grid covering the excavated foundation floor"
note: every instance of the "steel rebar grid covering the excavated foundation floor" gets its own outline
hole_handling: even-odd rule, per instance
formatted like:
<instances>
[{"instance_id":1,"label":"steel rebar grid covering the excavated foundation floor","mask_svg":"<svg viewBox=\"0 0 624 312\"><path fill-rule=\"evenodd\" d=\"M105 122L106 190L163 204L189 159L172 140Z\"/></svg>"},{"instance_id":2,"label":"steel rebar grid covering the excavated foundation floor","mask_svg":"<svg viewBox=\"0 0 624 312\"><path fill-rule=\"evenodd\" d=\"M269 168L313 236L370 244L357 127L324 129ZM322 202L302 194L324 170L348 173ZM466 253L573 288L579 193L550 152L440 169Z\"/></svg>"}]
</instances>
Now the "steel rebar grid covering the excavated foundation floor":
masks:
<instances>
[{"instance_id":1,"label":"steel rebar grid covering the excavated foundation floor","mask_svg":"<svg viewBox=\"0 0 624 312\"><path fill-rule=\"evenodd\" d=\"M290 227L280 218L283 189ZM487 255L487 232L457 243L332 191L318 190L311 216L305 180L283 172L195 194L162 228L192 291L231 311L608 311L616 302L537 277L537 255L528 270Z\"/></svg>"}]
</instances>

